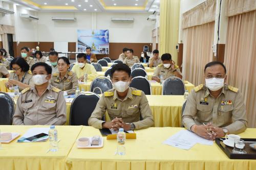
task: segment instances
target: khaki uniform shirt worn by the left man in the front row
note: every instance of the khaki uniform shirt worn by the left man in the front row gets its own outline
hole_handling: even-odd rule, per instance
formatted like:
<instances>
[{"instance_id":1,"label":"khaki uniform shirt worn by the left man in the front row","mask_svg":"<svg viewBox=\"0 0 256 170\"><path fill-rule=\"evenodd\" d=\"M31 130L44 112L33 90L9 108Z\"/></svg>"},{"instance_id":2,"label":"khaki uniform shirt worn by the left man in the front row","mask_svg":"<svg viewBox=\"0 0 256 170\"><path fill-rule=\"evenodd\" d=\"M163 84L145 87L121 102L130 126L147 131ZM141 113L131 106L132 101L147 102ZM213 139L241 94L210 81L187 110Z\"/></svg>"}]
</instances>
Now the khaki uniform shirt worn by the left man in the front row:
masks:
<instances>
[{"instance_id":1,"label":"khaki uniform shirt worn by the left man in the front row","mask_svg":"<svg viewBox=\"0 0 256 170\"><path fill-rule=\"evenodd\" d=\"M50 98L50 99L49 99ZM13 125L63 125L66 123L66 102L63 92L48 85L37 95L35 86L22 91L13 115Z\"/></svg>"}]
</instances>

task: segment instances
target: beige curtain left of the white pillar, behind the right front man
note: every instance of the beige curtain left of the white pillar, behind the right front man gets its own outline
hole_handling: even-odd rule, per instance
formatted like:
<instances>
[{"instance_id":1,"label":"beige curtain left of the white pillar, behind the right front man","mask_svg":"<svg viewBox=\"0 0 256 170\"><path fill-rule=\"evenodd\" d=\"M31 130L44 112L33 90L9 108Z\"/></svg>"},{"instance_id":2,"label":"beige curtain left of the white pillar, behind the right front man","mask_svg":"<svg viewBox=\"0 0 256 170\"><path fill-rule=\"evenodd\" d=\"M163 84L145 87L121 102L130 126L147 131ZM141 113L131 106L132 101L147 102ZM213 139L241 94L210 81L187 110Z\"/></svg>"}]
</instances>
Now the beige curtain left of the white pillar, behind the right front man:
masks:
<instances>
[{"instance_id":1,"label":"beige curtain left of the white pillar, behind the right front man","mask_svg":"<svg viewBox=\"0 0 256 170\"><path fill-rule=\"evenodd\" d=\"M204 83L204 66L212 61L215 22L183 30L183 77L195 85Z\"/></svg>"}]
</instances>

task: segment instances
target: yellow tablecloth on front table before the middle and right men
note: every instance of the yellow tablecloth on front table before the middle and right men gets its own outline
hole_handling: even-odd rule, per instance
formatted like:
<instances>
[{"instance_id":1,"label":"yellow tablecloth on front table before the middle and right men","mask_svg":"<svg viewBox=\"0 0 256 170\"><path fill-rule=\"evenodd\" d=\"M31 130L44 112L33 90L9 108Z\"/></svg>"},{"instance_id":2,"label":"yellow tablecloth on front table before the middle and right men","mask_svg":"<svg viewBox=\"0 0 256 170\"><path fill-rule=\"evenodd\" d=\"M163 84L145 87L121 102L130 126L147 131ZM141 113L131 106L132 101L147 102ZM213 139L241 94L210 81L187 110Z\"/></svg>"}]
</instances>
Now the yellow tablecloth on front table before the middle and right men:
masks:
<instances>
[{"instance_id":1,"label":"yellow tablecloth on front table before the middle and right men","mask_svg":"<svg viewBox=\"0 0 256 170\"><path fill-rule=\"evenodd\" d=\"M135 131L137 139L127 139L124 156L115 155L116 140L106 140L100 149L77 149L73 145L67 159L68 169L155 169L155 170L254 170L256 160L229 159L214 145L196 144L190 150L181 150L162 144L183 128L148 128ZM256 129L247 129L241 137L255 138ZM100 135L99 130L83 127L79 137Z\"/></svg>"}]
</instances>

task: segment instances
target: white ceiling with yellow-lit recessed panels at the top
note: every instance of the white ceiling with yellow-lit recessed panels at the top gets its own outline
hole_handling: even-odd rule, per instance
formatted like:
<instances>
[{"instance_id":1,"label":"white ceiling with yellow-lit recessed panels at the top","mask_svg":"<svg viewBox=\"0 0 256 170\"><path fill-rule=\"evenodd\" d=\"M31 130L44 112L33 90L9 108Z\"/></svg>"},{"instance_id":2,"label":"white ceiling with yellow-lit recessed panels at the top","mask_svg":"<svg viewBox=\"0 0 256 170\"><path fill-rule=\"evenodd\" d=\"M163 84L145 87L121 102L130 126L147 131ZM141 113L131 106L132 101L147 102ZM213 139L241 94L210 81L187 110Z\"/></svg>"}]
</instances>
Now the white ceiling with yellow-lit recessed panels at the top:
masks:
<instances>
[{"instance_id":1,"label":"white ceiling with yellow-lit recessed panels at the top","mask_svg":"<svg viewBox=\"0 0 256 170\"><path fill-rule=\"evenodd\" d=\"M42 7L65 6L76 9L38 8L23 0L9 0L38 11L72 11L72 12L154 12L160 6L160 0L30 0ZM46 3L46 4L45 4ZM114 5L115 4L115 5ZM137 4L137 5L136 5ZM105 7L109 7L105 9ZM120 9L119 9L120 7ZM131 8L135 7L135 8ZM139 8L139 9L136 9Z\"/></svg>"}]
</instances>

